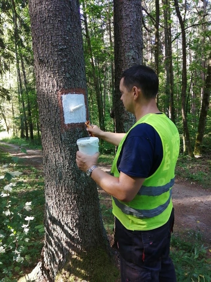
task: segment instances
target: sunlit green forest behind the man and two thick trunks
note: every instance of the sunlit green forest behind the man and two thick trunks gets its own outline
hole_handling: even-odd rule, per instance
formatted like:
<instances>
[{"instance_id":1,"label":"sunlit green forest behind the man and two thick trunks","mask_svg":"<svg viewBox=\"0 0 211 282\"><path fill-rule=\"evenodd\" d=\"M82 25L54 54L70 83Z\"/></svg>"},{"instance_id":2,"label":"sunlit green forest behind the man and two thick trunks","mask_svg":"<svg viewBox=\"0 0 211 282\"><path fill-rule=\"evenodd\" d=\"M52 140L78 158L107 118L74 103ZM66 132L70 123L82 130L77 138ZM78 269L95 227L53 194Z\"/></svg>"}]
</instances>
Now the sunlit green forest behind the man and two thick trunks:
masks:
<instances>
[{"instance_id":1,"label":"sunlit green forest behind the man and two thick trunks","mask_svg":"<svg viewBox=\"0 0 211 282\"><path fill-rule=\"evenodd\" d=\"M210 166L211 7L206 1L179 1L179 9L177 6L177 1L142 2L142 63L158 74L158 108L179 130L180 154L185 160L183 174L184 170L190 171L185 156L203 156ZM90 120L102 130L115 131L113 1L81 1L80 13ZM132 11L131 16L134 16ZM33 148L41 149L27 1L1 1L0 47L2 140L30 143ZM118 119L121 119L120 110ZM100 150L108 158L115 153L114 146L106 142L101 143ZM208 187L208 172L194 171L192 180L200 180ZM198 253L194 252L196 257ZM202 272L197 273L203 276Z\"/></svg>"}]
</instances>

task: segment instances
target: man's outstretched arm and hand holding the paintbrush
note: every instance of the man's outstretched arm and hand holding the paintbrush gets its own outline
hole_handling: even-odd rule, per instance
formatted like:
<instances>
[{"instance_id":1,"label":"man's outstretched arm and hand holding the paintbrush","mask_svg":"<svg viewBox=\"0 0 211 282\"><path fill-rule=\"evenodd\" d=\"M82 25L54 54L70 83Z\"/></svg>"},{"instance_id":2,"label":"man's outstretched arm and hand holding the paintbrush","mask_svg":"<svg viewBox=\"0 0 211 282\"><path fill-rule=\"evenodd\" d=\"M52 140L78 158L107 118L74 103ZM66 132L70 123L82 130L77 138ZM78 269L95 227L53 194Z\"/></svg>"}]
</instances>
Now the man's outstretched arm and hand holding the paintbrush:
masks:
<instances>
[{"instance_id":1,"label":"man's outstretched arm and hand holding the paintbrush","mask_svg":"<svg viewBox=\"0 0 211 282\"><path fill-rule=\"evenodd\" d=\"M116 146L119 145L120 141L125 136L125 133L114 133L114 132L106 132L102 131L98 126L92 125L93 128L87 128L88 133L94 134L94 136L101 138L111 144Z\"/></svg>"}]
</instances>

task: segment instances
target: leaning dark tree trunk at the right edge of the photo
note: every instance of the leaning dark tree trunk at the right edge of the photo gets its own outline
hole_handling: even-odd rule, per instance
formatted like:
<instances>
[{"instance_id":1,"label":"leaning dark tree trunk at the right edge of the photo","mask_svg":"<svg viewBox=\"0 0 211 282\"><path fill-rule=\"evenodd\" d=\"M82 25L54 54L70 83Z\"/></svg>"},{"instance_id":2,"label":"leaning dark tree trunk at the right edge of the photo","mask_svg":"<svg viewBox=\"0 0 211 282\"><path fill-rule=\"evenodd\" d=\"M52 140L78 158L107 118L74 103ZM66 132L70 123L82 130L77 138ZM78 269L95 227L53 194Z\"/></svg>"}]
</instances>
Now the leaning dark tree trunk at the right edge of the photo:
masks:
<instances>
[{"instance_id":1,"label":"leaning dark tree trunk at the right edge of the photo","mask_svg":"<svg viewBox=\"0 0 211 282\"><path fill-rule=\"evenodd\" d=\"M203 142L204 132L205 132L210 91L211 91L211 53L209 55L209 65L207 68L207 77L205 81L205 92L204 92L204 96L202 99L201 112L200 112L200 117L199 117L199 125L198 125L198 130L196 133L196 142L195 142L195 148L194 148L195 155L202 154L202 142Z\"/></svg>"}]
</instances>

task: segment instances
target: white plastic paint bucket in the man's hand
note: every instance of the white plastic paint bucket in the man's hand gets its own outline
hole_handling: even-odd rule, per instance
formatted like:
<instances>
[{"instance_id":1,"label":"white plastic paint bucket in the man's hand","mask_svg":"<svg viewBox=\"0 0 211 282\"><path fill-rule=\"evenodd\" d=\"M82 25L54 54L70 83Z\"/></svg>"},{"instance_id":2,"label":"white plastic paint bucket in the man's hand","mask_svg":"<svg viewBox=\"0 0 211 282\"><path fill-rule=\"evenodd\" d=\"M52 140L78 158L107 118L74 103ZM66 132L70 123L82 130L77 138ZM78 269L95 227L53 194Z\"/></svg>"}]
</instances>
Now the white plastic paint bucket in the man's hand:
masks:
<instances>
[{"instance_id":1,"label":"white plastic paint bucket in the man's hand","mask_svg":"<svg viewBox=\"0 0 211 282\"><path fill-rule=\"evenodd\" d=\"M97 137L86 137L77 140L79 152L92 156L99 152L99 139Z\"/></svg>"}]
</instances>

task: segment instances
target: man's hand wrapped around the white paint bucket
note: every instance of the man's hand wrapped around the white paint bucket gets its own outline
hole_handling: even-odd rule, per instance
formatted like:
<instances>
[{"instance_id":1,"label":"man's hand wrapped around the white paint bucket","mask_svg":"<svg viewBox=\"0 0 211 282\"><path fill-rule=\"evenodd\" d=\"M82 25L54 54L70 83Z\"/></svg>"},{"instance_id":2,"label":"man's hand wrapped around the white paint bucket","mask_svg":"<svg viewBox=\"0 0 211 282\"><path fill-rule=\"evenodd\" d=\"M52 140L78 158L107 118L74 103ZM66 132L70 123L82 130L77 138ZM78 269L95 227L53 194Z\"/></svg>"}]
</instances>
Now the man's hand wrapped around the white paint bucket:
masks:
<instances>
[{"instance_id":1,"label":"man's hand wrapped around the white paint bucket","mask_svg":"<svg viewBox=\"0 0 211 282\"><path fill-rule=\"evenodd\" d=\"M80 170L86 172L92 165L97 165L99 155L99 152L95 153L93 156L89 156L77 151L76 164Z\"/></svg>"}]
</instances>

